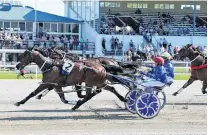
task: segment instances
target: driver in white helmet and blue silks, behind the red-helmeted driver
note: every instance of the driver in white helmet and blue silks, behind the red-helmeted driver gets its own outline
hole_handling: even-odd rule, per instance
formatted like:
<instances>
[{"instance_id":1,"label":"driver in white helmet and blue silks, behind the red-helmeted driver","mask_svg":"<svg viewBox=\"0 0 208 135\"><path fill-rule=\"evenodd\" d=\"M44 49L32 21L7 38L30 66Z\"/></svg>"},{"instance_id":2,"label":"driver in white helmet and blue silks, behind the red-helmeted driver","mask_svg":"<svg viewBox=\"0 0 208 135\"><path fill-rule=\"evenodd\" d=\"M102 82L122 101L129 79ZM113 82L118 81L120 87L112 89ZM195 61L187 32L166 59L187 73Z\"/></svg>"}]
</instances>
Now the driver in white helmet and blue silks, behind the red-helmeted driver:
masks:
<instances>
[{"instance_id":1,"label":"driver in white helmet and blue silks, behind the red-helmeted driver","mask_svg":"<svg viewBox=\"0 0 208 135\"><path fill-rule=\"evenodd\" d=\"M161 57L164 58L164 60L165 60L164 67L167 72L168 79L170 79L170 78L173 79L175 77L175 75L174 75L173 63L170 61L171 55L168 52L164 52L161 54Z\"/></svg>"}]
</instances>

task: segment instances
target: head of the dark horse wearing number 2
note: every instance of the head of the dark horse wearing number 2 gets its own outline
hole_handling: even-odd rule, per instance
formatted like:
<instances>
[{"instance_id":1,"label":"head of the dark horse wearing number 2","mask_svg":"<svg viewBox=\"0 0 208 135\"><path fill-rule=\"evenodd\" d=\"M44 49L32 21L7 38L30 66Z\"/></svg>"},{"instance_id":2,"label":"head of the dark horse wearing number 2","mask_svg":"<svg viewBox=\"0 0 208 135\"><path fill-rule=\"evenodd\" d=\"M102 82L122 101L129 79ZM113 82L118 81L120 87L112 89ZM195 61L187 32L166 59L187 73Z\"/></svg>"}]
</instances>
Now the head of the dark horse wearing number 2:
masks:
<instances>
[{"instance_id":1,"label":"head of the dark horse wearing number 2","mask_svg":"<svg viewBox=\"0 0 208 135\"><path fill-rule=\"evenodd\" d=\"M30 63L34 62L34 56L37 55L38 52L34 51L33 48L27 49L23 54L20 55L20 62L16 65L16 68L23 69Z\"/></svg>"}]
</instances>

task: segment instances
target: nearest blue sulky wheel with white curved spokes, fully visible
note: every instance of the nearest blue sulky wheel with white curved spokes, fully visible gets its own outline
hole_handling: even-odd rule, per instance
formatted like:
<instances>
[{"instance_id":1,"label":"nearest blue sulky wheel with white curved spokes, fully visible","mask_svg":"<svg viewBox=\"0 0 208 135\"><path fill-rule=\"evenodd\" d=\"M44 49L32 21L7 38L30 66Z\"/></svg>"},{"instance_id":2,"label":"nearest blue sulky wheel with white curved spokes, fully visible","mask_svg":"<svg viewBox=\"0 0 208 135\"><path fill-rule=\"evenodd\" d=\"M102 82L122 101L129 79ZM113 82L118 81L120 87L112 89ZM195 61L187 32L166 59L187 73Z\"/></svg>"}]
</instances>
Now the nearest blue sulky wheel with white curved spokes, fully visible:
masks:
<instances>
[{"instance_id":1,"label":"nearest blue sulky wheel with white curved spokes, fully visible","mask_svg":"<svg viewBox=\"0 0 208 135\"><path fill-rule=\"evenodd\" d=\"M136 100L136 112L145 119L151 119L160 111L160 100L152 93L144 93Z\"/></svg>"}]
</instances>

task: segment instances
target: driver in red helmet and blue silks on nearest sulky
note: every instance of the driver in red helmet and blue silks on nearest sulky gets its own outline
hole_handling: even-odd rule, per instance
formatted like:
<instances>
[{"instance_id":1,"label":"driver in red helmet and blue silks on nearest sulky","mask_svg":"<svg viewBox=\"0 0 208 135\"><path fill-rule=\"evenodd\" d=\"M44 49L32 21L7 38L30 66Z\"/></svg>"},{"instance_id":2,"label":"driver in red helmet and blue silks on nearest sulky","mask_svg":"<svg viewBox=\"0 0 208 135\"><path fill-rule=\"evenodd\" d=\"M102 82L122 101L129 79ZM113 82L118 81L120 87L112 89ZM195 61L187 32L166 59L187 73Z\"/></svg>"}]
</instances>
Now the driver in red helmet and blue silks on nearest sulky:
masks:
<instances>
[{"instance_id":1,"label":"driver in red helmet and blue silks on nearest sulky","mask_svg":"<svg viewBox=\"0 0 208 135\"><path fill-rule=\"evenodd\" d=\"M162 87L165 84L171 84L172 79L168 79L167 72L163 66L164 59L162 57L155 57L154 62L156 66L147 65L147 67L152 68L151 71L147 72L146 74L141 72L141 74L147 76L147 78L144 78L145 80L142 84L147 87Z\"/></svg>"}]
</instances>

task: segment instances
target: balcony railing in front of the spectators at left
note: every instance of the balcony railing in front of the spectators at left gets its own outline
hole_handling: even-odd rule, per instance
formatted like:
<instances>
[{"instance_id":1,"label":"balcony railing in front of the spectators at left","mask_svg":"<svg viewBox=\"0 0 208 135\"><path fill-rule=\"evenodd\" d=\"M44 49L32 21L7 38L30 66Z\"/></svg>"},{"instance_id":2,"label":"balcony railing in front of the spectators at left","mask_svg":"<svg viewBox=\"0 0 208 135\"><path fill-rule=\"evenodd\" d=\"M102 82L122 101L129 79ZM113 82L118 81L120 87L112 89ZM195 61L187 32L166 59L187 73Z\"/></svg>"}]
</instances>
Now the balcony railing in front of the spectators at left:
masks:
<instances>
[{"instance_id":1,"label":"balcony railing in front of the spectators at left","mask_svg":"<svg viewBox=\"0 0 208 135\"><path fill-rule=\"evenodd\" d=\"M0 49L27 49L28 47L38 46L40 48L51 46L63 46L66 50L74 51L95 51L94 42L73 42L69 41L56 42L56 41L13 41L13 40L0 40ZM84 47L84 48L83 48Z\"/></svg>"}]
</instances>

